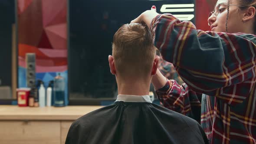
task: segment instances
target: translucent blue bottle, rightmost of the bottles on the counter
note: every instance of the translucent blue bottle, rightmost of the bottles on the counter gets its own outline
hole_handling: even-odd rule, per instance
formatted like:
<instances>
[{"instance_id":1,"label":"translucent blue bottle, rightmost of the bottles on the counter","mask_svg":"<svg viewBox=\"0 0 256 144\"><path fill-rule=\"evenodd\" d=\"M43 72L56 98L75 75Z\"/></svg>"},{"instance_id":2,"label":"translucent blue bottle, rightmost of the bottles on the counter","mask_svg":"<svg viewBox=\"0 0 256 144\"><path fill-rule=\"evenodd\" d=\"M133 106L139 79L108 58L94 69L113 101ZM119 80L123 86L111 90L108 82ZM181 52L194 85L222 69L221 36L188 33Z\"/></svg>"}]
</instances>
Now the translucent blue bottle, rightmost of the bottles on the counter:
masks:
<instances>
[{"instance_id":1,"label":"translucent blue bottle, rightmost of the bottles on the counter","mask_svg":"<svg viewBox=\"0 0 256 144\"><path fill-rule=\"evenodd\" d=\"M53 84L53 96L54 106L64 107L65 106L65 81L60 74L54 78Z\"/></svg>"}]
</instances>

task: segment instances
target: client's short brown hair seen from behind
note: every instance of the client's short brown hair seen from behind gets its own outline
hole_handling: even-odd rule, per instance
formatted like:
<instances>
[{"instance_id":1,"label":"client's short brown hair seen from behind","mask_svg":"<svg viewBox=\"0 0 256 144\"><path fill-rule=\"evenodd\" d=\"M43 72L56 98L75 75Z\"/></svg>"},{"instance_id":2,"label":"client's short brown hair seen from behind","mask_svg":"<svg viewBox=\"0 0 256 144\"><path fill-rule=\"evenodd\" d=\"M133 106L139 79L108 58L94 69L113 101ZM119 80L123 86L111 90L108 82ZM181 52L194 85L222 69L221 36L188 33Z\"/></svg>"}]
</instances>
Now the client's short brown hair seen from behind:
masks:
<instances>
[{"instance_id":1,"label":"client's short brown hair seen from behind","mask_svg":"<svg viewBox=\"0 0 256 144\"><path fill-rule=\"evenodd\" d=\"M156 49L148 27L139 23L121 26L113 38L112 54L120 75L151 72Z\"/></svg>"}]
</instances>

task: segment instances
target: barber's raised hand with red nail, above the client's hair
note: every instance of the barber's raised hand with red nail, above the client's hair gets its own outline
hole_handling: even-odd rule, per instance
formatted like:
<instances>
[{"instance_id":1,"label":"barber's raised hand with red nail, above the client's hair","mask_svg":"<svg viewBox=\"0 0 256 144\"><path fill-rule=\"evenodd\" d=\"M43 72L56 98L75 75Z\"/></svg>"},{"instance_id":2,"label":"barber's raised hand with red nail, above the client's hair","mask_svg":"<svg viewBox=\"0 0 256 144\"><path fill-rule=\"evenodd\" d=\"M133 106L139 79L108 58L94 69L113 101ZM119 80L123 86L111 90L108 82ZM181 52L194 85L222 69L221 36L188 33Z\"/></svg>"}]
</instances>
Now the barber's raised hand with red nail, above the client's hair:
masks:
<instances>
[{"instance_id":1,"label":"barber's raised hand with red nail, above the client's hair","mask_svg":"<svg viewBox=\"0 0 256 144\"><path fill-rule=\"evenodd\" d=\"M132 20L131 23L146 23L148 27L150 27L151 21L156 17L159 13L157 13L156 7L152 6L151 10L146 10L141 13L135 20Z\"/></svg>"}]
</instances>

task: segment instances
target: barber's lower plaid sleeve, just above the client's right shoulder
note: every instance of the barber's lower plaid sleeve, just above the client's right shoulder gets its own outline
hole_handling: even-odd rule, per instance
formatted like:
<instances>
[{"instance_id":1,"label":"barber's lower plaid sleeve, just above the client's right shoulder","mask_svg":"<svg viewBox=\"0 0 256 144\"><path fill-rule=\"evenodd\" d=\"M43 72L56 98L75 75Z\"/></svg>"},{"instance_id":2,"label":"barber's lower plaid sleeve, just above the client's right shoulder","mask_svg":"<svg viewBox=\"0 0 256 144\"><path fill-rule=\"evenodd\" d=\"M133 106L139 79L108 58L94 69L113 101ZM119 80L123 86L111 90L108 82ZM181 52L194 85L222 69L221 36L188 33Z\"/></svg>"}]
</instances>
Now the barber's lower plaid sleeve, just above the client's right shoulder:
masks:
<instances>
[{"instance_id":1,"label":"barber's lower plaid sleeve, just above the client's right shoulder","mask_svg":"<svg viewBox=\"0 0 256 144\"><path fill-rule=\"evenodd\" d=\"M175 80L168 80L163 88L156 91L158 99L165 108L171 109L200 123L201 103L197 93L185 83L179 85Z\"/></svg>"}]
</instances>

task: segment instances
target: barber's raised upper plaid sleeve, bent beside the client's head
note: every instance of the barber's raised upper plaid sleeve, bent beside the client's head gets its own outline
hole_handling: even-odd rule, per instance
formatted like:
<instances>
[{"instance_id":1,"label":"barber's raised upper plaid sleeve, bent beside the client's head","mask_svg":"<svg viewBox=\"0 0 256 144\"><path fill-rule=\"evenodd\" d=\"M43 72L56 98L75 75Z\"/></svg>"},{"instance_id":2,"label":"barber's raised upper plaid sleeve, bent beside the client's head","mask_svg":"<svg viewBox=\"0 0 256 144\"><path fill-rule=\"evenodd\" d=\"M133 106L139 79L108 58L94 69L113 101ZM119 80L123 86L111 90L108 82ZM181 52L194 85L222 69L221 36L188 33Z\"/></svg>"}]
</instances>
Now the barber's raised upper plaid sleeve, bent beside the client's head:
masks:
<instances>
[{"instance_id":1,"label":"barber's raised upper plaid sleeve, bent beside the client's head","mask_svg":"<svg viewBox=\"0 0 256 144\"><path fill-rule=\"evenodd\" d=\"M204 32L171 14L156 16L151 31L164 60L173 63L195 92L229 105L242 103L249 95L255 82L255 35Z\"/></svg>"}]
</instances>

